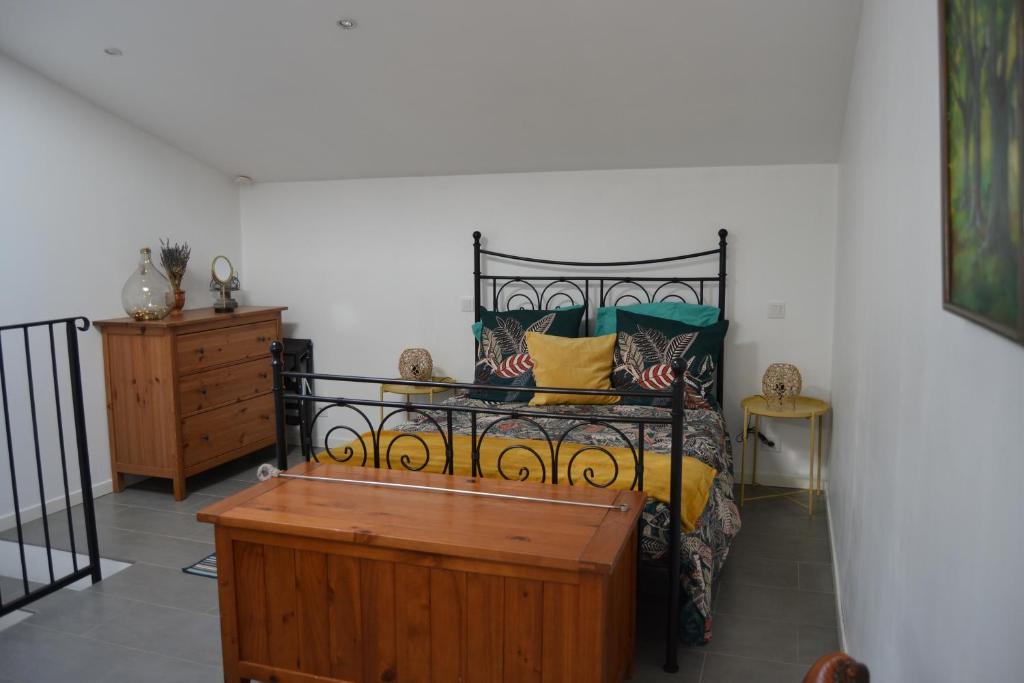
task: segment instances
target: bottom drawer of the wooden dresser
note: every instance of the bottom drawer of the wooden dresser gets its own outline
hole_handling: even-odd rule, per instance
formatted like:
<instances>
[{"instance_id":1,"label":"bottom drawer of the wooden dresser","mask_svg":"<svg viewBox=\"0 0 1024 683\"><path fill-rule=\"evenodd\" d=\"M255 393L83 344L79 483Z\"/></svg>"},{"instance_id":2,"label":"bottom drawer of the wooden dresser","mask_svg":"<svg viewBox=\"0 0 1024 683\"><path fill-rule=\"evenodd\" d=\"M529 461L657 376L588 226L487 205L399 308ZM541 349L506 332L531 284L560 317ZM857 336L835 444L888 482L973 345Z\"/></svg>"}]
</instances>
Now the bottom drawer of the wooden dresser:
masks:
<instances>
[{"instance_id":1,"label":"bottom drawer of the wooden dresser","mask_svg":"<svg viewBox=\"0 0 1024 683\"><path fill-rule=\"evenodd\" d=\"M181 421L185 467L268 438L273 438L272 394L216 408Z\"/></svg>"}]
</instances>

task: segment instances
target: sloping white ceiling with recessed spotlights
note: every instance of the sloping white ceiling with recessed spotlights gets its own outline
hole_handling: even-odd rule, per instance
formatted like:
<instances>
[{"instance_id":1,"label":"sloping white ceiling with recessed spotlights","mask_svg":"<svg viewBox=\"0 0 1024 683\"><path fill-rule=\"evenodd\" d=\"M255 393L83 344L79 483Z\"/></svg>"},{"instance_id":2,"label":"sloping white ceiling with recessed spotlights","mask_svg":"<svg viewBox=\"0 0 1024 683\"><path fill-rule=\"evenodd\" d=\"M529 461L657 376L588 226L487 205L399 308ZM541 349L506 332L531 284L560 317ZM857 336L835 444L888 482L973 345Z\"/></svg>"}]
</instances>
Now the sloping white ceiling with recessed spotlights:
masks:
<instances>
[{"instance_id":1,"label":"sloping white ceiling with recessed spotlights","mask_svg":"<svg viewBox=\"0 0 1024 683\"><path fill-rule=\"evenodd\" d=\"M0 0L0 51L257 180L816 163L839 154L859 14L860 0Z\"/></svg>"}]
</instances>

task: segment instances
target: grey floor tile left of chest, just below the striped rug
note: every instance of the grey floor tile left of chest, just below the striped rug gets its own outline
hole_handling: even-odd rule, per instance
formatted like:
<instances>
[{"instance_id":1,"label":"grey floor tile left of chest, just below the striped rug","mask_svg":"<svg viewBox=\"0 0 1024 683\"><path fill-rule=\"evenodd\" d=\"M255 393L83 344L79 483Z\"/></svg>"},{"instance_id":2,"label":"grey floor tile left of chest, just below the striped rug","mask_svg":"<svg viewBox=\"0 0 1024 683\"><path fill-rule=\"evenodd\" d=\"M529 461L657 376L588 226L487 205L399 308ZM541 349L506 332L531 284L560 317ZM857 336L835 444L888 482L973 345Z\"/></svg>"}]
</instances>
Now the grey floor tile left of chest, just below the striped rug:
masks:
<instances>
[{"instance_id":1,"label":"grey floor tile left of chest, just below the striped rug","mask_svg":"<svg viewBox=\"0 0 1024 683\"><path fill-rule=\"evenodd\" d=\"M202 556L197 556L196 559ZM217 582L184 573L180 568L171 569L141 562L99 582L89 590L201 614L206 614L217 605Z\"/></svg>"}]
</instances>

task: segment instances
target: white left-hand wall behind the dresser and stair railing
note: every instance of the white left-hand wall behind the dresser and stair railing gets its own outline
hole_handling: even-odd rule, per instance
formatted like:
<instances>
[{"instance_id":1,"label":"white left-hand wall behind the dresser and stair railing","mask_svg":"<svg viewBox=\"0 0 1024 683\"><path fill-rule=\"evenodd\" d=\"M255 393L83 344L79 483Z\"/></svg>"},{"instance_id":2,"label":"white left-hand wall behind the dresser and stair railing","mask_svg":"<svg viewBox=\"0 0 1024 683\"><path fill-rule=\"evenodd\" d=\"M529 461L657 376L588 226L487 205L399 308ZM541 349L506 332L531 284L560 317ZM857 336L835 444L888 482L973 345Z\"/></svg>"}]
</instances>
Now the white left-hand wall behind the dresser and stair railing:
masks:
<instances>
[{"instance_id":1,"label":"white left-hand wall behind the dresser and stair railing","mask_svg":"<svg viewBox=\"0 0 1024 683\"><path fill-rule=\"evenodd\" d=\"M0 55L0 325L124 315L121 287L138 249L156 249L161 237L191 245L187 305L209 305L206 273L213 256L224 253L241 264L238 207L238 190L223 174ZM19 341L4 337L14 385L24 385ZM99 333L80 335L80 343L93 481L109 486ZM52 401L48 346L38 351L37 400L45 411ZM24 401L11 408L23 507L39 498L25 409ZM63 411L68 417L68 403ZM49 499L59 493L52 467L55 422L50 414L40 418L43 456L51 464ZM12 507L7 467L0 472L3 526Z\"/></svg>"}]
</instances>

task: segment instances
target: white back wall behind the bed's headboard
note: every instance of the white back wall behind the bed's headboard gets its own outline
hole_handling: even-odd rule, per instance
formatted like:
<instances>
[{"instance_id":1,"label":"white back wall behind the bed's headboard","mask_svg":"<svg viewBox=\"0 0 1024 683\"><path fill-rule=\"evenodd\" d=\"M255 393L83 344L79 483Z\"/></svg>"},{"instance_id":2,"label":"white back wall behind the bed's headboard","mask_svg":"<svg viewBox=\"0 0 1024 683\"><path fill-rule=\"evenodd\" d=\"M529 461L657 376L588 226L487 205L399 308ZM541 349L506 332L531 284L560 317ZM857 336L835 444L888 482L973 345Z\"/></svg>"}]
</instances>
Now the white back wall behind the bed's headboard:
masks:
<instances>
[{"instance_id":1,"label":"white back wall behind the bed's headboard","mask_svg":"<svg viewBox=\"0 0 1024 683\"><path fill-rule=\"evenodd\" d=\"M258 183L242 191L243 288L291 307L324 372L394 376L402 348L472 378L472 239L504 252L649 258L717 246L729 229L726 415L773 360L830 386L834 166L762 166ZM714 261L701 274L717 272ZM767 319L769 300L787 303ZM372 392L371 392L372 393ZM806 472L805 426L782 432L765 478ZM806 480L806 479L805 479Z\"/></svg>"}]
</instances>

